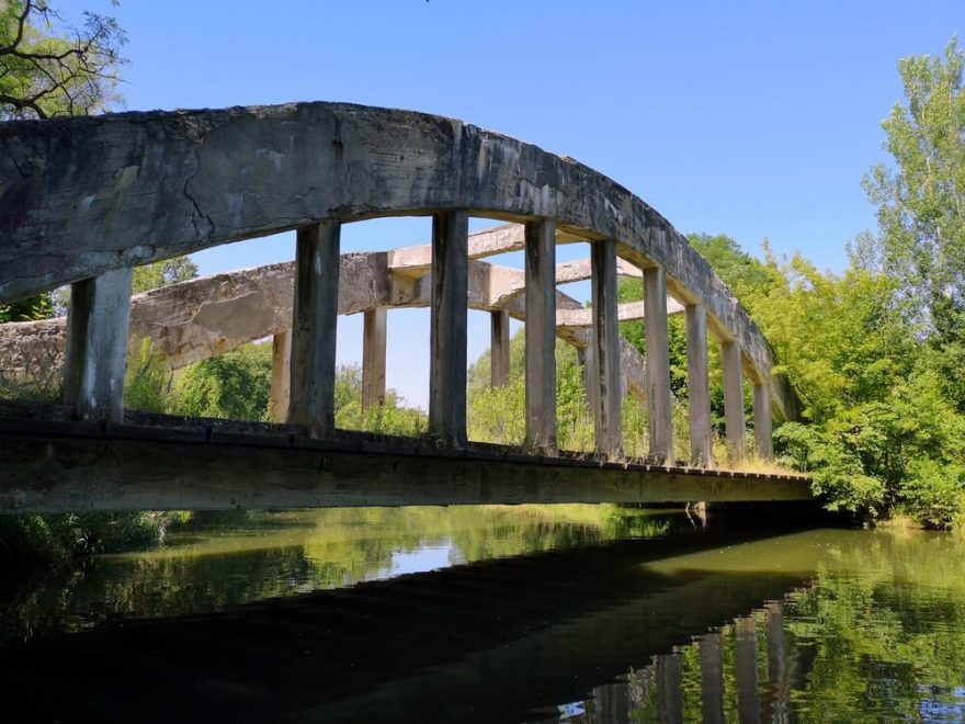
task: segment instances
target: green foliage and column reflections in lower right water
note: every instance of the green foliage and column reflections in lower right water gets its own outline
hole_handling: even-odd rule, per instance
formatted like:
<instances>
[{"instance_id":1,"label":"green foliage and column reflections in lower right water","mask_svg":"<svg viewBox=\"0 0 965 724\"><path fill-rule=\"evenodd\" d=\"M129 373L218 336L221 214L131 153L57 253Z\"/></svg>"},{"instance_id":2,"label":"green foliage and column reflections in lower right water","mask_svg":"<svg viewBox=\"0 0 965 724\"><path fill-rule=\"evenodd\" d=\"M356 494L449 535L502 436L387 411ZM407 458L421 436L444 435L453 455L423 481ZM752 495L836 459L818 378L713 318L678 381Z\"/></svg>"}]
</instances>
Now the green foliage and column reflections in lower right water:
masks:
<instances>
[{"instance_id":1,"label":"green foliage and column reflections in lower right water","mask_svg":"<svg viewBox=\"0 0 965 724\"><path fill-rule=\"evenodd\" d=\"M566 721L962 721L961 539L861 542L813 586L594 688Z\"/></svg>"}]
</instances>

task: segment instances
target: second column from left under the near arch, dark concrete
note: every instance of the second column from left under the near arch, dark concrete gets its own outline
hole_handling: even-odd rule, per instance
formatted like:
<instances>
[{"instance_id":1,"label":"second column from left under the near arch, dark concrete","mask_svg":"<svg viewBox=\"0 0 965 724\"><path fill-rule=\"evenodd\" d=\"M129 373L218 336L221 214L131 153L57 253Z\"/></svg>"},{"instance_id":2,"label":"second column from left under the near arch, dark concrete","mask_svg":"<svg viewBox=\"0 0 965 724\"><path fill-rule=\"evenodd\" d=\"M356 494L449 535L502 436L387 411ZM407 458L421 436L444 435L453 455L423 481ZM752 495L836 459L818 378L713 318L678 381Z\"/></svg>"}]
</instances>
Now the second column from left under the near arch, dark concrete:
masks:
<instances>
[{"instance_id":1,"label":"second column from left under the near arch, dark concrete","mask_svg":"<svg viewBox=\"0 0 965 724\"><path fill-rule=\"evenodd\" d=\"M288 422L306 426L313 438L336 428L340 239L336 220L303 226L296 237Z\"/></svg>"}]
</instances>

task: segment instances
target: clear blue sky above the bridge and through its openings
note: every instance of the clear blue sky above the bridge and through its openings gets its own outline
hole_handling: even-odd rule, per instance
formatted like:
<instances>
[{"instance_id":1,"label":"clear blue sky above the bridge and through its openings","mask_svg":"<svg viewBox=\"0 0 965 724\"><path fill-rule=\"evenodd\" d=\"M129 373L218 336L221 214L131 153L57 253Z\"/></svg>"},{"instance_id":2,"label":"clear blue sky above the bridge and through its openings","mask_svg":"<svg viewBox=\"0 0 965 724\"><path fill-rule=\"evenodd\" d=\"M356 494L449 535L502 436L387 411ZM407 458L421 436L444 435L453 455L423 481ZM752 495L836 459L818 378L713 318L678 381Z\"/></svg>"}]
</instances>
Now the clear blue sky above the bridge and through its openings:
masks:
<instances>
[{"instance_id":1,"label":"clear blue sky above the bridge and through its openings","mask_svg":"<svg viewBox=\"0 0 965 724\"><path fill-rule=\"evenodd\" d=\"M325 100L455 116L591 166L681 231L725 233L752 253L767 237L833 270L845 242L874 227L860 182L887 160L881 122L902 98L896 61L938 54L965 30L962 0L60 7L68 19L114 14L127 31L128 110ZM428 228L350 228L343 250L425 242ZM293 241L275 238L197 261L212 273L292 254ZM472 360L488 327L470 316ZM360 340L361 320L340 320L339 359L360 360ZM389 348L389 386L424 405L428 315L390 313Z\"/></svg>"}]
</instances>

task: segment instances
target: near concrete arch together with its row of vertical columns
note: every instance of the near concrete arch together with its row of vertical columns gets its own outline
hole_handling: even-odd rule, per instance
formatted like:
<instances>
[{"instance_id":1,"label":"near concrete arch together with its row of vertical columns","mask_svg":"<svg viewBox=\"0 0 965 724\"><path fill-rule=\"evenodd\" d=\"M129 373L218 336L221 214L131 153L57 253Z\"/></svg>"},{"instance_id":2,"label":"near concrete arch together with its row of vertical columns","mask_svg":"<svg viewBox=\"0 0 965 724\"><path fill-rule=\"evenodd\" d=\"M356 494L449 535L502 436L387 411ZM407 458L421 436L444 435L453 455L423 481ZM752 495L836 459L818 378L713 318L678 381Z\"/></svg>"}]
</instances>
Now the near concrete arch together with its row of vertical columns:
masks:
<instances>
[{"instance_id":1,"label":"near concrete arch together with its row of vertical columns","mask_svg":"<svg viewBox=\"0 0 965 724\"><path fill-rule=\"evenodd\" d=\"M560 240L591 245L599 453L621 455L618 259L644 279L652 459L674 456L668 294L686 317L694 462L712 462L708 332L722 347L734 459L745 454L742 376L753 387L760 456L771 455L772 412L795 414L767 341L686 239L625 189L535 146L450 118L330 103L13 122L0 124L0 302L71 284L64 399L82 418L123 416L134 265L295 229L287 419L315 437L333 433L341 227L431 215L429 427L443 444L465 446L470 214L523 224L526 442L535 451L556 453Z\"/></svg>"}]
</instances>

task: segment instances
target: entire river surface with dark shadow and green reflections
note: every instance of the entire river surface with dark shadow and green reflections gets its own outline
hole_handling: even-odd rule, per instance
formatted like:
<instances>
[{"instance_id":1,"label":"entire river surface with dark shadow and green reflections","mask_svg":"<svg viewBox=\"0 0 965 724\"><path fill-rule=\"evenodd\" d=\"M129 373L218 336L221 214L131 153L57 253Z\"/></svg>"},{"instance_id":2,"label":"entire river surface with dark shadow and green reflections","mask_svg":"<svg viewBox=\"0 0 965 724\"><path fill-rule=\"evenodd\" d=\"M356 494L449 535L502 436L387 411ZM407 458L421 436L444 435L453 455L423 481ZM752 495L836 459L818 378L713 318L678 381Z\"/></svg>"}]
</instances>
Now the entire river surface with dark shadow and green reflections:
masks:
<instances>
[{"instance_id":1,"label":"entire river surface with dark shadow and green reflections","mask_svg":"<svg viewBox=\"0 0 965 724\"><path fill-rule=\"evenodd\" d=\"M5 587L0 717L965 720L965 539L711 522L612 506L222 520Z\"/></svg>"}]
</instances>

